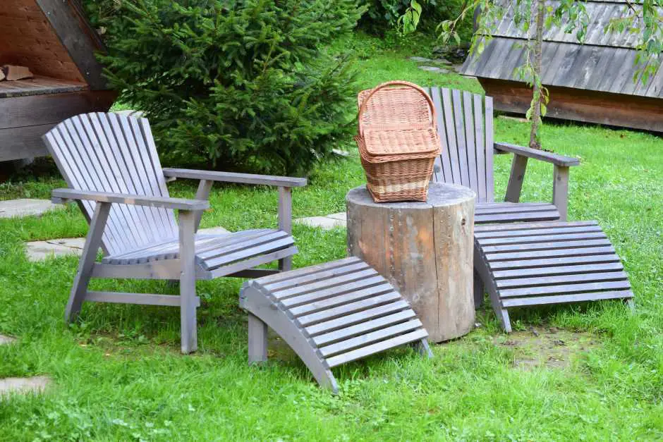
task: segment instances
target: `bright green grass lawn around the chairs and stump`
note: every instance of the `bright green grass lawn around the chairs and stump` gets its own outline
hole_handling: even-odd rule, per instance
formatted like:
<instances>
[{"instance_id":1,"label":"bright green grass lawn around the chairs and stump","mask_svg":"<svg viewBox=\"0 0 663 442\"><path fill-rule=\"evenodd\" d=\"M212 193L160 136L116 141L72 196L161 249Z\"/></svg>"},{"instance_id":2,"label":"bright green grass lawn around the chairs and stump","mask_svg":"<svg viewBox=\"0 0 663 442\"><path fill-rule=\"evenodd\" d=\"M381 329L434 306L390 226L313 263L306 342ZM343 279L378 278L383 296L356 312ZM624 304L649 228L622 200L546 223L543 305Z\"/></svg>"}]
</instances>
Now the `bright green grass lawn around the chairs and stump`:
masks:
<instances>
[{"instance_id":1,"label":"bright green grass lawn around the chairs and stump","mask_svg":"<svg viewBox=\"0 0 663 442\"><path fill-rule=\"evenodd\" d=\"M391 42L393 43L393 42ZM427 45L343 42L360 55L360 87L404 79L480 91L455 74L425 73L406 58ZM497 118L497 140L525 143L528 125ZM582 159L571 172L570 219L596 219L631 276L636 310L620 302L513 309L516 333L501 333L489 309L468 336L434 345L422 360L395 350L335 370L341 393L317 387L282 345L269 364L246 363L241 281L199 283L199 347L179 354L179 316L168 307L88 305L66 326L63 311L77 259L31 263L23 242L84 235L75 207L37 219L0 220L0 378L47 374L47 394L0 400L0 441L111 440L655 440L663 438L663 140L628 130L547 125L543 144ZM355 148L321 164L295 190L294 216L344 210L363 183ZM498 199L509 156L496 159ZM53 175L0 184L0 198L47 198ZM190 196L195 183L171 185ZM530 162L525 201L552 198L552 166ZM202 226L276 226L276 192L217 185ZM346 233L296 226L295 266L345 255ZM95 281L92 288L170 290L164 283ZM545 345L516 345L557 331L564 364ZM561 343L559 343L561 342ZM551 353L552 354L552 353ZM535 360L540 363L522 364Z\"/></svg>"}]
</instances>

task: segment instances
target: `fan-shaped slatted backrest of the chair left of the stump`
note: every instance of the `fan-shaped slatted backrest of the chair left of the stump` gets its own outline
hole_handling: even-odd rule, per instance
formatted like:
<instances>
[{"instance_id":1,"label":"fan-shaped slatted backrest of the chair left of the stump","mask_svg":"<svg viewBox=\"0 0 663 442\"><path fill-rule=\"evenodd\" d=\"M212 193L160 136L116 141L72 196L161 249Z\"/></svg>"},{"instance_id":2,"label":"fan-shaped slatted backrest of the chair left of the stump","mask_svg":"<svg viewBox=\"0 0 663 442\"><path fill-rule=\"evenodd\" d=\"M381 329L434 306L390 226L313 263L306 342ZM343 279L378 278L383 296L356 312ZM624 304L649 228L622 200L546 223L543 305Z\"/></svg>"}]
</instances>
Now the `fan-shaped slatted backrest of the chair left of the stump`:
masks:
<instances>
[{"instance_id":1,"label":"fan-shaped slatted backrest of the chair left of the stump","mask_svg":"<svg viewBox=\"0 0 663 442\"><path fill-rule=\"evenodd\" d=\"M117 113L68 118L44 135L51 156L70 188L168 197L150 123ZM83 202L87 219L94 202ZM171 209L113 204L103 236L104 250L120 254L176 238Z\"/></svg>"}]
</instances>

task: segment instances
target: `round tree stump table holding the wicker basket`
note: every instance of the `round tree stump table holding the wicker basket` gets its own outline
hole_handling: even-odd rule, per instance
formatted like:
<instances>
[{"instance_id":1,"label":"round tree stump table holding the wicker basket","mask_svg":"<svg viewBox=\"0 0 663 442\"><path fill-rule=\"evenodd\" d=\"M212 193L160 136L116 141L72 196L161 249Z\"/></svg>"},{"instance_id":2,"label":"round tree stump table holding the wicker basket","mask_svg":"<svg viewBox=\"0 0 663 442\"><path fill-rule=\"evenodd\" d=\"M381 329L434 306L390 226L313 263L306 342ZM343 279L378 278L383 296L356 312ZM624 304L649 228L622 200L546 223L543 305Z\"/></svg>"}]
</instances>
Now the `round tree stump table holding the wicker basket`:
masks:
<instances>
[{"instance_id":1,"label":"round tree stump table holding the wicker basket","mask_svg":"<svg viewBox=\"0 0 663 442\"><path fill-rule=\"evenodd\" d=\"M431 183L427 202L373 202L365 186L348 192L348 252L373 266L441 342L474 326L475 192Z\"/></svg>"}]
</instances>

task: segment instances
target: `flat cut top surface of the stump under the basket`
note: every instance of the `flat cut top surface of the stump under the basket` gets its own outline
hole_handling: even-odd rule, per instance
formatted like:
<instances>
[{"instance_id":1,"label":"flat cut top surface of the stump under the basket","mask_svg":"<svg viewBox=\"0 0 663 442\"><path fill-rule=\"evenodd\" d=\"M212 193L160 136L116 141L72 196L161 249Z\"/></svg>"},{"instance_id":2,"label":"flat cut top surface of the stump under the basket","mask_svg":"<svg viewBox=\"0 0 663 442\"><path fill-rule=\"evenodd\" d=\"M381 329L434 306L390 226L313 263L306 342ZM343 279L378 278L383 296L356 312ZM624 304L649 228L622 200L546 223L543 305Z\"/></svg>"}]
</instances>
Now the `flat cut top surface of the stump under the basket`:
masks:
<instances>
[{"instance_id":1,"label":"flat cut top surface of the stump under the basket","mask_svg":"<svg viewBox=\"0 0 663 442\"><path fill-rule=\"evenodd\" d=\"M381 209L430 209L431 207L460 204L468 199L474 199L476 196L477 194L473 190L463 187L462 185L430 183L428 188L428 199L425 202L375 202L370 196L368 190L366 190L366 186L362 185L348 192L348 195L346 195L346 202Z\"/></svg>"}]
</instances>

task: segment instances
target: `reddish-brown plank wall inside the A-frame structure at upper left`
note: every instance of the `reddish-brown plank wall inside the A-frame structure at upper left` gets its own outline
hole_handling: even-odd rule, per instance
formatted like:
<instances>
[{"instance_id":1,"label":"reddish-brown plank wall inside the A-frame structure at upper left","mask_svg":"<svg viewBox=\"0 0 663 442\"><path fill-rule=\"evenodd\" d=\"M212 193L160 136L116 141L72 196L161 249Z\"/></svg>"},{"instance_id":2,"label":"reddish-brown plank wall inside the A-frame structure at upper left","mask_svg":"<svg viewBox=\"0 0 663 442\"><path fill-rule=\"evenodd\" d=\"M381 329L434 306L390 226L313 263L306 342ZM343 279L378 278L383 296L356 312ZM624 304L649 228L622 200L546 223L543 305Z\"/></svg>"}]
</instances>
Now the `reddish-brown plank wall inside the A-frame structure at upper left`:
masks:
<instances>
[{"instance_id":1,"label":"reddish-brown plank wall inside the A-frame structure at upper left","mask_svg":"<svg viewBox=\"0 0 663 442\"><path fill-rule=\"evenodd\" d=\"M0 64L35 75L85 82L36 0L0 0Z\"/></svg>"}]
</instances>

